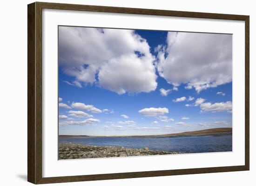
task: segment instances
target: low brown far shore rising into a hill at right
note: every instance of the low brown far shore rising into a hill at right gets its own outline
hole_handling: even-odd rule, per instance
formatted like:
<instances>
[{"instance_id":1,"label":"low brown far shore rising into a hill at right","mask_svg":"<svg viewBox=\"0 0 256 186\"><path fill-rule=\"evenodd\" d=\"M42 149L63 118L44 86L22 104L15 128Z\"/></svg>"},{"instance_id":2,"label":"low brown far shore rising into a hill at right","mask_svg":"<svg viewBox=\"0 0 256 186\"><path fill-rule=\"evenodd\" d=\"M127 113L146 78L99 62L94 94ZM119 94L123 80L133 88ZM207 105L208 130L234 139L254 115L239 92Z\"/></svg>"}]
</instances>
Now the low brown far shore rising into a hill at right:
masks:
<instances>
[{"instance_id":1,"label":"low brown far shore rising into a hill at right","mask_svg":"<svg viewBox=\"0 0 256 186\"><path fill-rule=\"evenodd\" d=\"M182 133L164 134L164 135L59 135L63 137L177 137L177 136L196 136L196 135L217 135L222 133L232 133L232 128L210 128L205 130L196 130Z\"/></svg>"}]
</instances>

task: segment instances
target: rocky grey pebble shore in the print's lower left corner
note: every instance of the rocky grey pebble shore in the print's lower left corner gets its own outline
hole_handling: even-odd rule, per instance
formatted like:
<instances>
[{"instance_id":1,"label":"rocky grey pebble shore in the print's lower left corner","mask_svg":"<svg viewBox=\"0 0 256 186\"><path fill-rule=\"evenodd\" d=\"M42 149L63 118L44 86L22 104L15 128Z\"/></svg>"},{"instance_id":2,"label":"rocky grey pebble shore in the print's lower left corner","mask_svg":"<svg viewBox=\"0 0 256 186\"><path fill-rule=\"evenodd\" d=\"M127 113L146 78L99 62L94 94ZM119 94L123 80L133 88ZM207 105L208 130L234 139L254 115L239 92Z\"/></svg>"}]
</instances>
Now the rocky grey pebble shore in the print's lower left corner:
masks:
<instances>
[{"instance_id":1,"label":"rocky grey pebble shore in the print's lower left corner","mask_svg":"<svg viewBox=\"0 0 256 186\"><path fill-rule=\"evenodd\" d=\"M149 150L148 147L124 148L124 147L81 145L81 144L73 144L73 143L59 144L59 160L162 155L162 154L182 154L182 153L154 151L154 150Z\"/></svg>"}]
</instances>

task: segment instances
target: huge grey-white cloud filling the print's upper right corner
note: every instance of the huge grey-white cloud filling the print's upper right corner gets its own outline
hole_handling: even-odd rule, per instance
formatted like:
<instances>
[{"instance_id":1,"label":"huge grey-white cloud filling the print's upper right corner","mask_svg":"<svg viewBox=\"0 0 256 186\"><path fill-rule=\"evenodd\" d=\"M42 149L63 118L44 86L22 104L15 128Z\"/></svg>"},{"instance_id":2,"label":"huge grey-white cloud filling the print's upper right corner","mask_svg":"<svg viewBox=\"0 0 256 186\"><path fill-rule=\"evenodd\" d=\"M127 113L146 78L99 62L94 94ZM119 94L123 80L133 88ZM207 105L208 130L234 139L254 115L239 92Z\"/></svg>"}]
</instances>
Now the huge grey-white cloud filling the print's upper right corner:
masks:
<instances>
[{"instance_id":1,"label":"huge grey-white cloud filling the print's upper right corner","mask_svg":"<svg viewBox=\"0 0 256 186\"><path fill-rule=\"evenodd\" d=\"M175 86L197 92L232 81L232 35L168 32L158 46L159 75Z\"/></svg>"}]
</instances>

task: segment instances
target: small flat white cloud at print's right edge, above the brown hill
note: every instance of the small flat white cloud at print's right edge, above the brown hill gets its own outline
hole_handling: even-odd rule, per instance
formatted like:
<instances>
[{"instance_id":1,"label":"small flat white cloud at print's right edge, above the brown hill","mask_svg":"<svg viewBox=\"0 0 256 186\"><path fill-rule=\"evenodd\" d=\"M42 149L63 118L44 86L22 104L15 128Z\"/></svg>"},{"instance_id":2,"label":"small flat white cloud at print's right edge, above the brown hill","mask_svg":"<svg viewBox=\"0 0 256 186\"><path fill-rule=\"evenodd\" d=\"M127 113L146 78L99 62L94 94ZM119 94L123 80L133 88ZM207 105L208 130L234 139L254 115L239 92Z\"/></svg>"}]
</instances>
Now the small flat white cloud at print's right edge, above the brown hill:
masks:
<instances>
[{"instance_id":1,"label":"small flat white cloud at print's right edge, above the brown hill","mask_svg":"<svg viewBox=\"0 0 256 186\"><path fill-rule=\"evenodd\" d=\"M202 103L200 105L203 112L230 112L232 111L232 102L221 102L221 103Z\"/></svg>"}]
</instances>

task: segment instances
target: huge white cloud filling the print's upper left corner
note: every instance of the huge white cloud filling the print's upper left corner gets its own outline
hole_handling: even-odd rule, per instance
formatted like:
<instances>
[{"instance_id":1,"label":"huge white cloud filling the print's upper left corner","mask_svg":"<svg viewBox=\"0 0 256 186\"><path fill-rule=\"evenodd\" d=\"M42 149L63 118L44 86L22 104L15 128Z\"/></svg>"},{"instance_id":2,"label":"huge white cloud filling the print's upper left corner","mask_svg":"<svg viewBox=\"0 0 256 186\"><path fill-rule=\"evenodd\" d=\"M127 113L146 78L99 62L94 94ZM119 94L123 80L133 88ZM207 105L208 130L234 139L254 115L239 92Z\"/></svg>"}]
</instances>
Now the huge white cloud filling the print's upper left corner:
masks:
<instances>
[{"instance_id":1,"label":"huge white cloud filling the print's upper left corner","mask_svg":"<svg viewBox=\"0 0 256 186\"><path fill-rule=\"evenodd\" d=\"M96 83L118 94L157 87L155 57L133 30L60 26L59 56L61 70L84 85Z\"/></svg>"}]
</instances>

